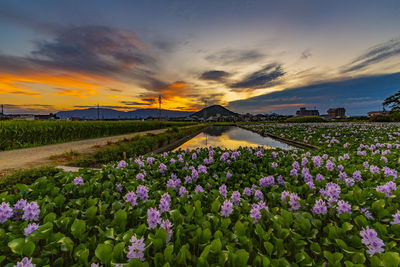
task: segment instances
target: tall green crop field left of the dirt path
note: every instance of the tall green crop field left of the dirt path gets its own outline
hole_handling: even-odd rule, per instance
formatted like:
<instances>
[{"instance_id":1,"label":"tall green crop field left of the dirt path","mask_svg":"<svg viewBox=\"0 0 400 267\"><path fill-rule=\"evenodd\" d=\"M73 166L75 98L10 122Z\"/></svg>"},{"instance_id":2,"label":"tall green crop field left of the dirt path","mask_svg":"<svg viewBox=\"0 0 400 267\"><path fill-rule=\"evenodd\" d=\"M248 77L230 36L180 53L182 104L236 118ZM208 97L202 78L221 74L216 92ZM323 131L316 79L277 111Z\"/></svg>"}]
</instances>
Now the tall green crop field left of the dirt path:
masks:
<instances>
[{"instance_id":1,"label":"tall green crop field left of the dirt path","mask_svg":"<svg viewBox=\"0 0 400 267\"><path fill-rule=\"evenodd\" d=\"M0 151L185 126L157 121L0 121Z\"/></svg>"}]
</instances>

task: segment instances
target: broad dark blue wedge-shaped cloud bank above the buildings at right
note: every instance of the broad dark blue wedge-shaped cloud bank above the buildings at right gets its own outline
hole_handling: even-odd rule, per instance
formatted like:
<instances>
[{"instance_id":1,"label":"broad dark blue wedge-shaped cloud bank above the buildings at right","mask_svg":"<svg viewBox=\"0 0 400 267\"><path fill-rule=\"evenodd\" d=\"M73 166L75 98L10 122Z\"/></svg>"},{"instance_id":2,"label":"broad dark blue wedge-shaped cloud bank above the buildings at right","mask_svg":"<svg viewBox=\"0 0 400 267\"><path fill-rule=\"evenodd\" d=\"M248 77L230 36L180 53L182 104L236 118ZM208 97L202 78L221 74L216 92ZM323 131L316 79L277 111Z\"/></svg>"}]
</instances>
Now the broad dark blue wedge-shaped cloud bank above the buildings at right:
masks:
<instances>
[{"instance_id":1,"label":"broad dark blue wedge-shaped cloud bank above the buildings at right","mask_svg":"<svg viewBox=\"0 0 400 267\"><path fill-rule=\"evenodd\" d=\"M382 108L382 101L400 88L400 73L366 76L318 83L233 101L236 112L278 112L293 115L301 107L314 107L325 114L329 108L344 107L347 114L365 115Z\"/></svg>"}]
</instances>

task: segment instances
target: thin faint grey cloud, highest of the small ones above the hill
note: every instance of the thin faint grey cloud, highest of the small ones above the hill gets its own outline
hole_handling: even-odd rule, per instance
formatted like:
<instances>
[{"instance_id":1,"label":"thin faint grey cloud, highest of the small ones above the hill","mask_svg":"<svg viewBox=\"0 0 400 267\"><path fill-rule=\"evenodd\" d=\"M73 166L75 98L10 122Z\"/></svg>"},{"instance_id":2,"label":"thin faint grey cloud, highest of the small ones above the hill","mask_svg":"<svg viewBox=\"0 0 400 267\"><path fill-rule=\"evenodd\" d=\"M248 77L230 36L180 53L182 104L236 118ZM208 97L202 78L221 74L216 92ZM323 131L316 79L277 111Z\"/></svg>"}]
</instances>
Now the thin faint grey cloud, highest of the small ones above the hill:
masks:
<instances>
[{"instance_id":1,"label":"thin faint grey cloud, highest of the small ones above the hill","mask_svg":"<svg viewBox=\"0 0 400 267\"><path fill-rule=\"evenodd\" d=\"M265 55L257 50L233 50L226 49L205 57L206 60L221 65L253 63L265 58Z\"/></svg>"}]
</instances>

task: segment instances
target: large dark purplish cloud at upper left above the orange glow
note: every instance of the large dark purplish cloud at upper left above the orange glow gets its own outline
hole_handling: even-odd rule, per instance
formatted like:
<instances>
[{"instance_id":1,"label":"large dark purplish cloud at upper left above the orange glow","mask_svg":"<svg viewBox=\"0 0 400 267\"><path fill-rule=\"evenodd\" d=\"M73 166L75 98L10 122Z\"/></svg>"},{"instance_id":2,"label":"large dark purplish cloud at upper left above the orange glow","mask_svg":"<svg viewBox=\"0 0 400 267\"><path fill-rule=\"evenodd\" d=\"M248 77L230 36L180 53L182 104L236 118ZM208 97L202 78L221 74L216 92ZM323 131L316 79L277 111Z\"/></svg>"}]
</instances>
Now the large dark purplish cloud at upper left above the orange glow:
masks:
<instances>
[{"instance_id":1,"label":"large dark purplish cloud at upper left above the orange glow","mask_svg":"<svg viewBox=\"0 0 400 267\"><path fill-rule=\"evenodd\" d=\"M33 62L96 74L120 73L134 65L151 65L154 59L141 51L134 33L105 26L60 30L53 40L36 42Z\"/></svg>"}]
</instances>

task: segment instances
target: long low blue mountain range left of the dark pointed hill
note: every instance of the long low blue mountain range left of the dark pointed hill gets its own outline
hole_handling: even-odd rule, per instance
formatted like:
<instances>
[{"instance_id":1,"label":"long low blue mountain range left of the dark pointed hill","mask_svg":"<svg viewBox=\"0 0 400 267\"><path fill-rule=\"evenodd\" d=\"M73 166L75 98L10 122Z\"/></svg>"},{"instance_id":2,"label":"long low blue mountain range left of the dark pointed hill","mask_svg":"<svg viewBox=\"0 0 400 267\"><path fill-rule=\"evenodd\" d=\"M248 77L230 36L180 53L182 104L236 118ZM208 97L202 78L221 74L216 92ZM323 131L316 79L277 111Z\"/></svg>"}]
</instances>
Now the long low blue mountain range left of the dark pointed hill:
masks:
<instances>
[{"instance_id":1,"label":"long low blue mountain range left of the dark pointed hill","mask_svg":"<svg viewBox=\"0 0 400 267\"><path fill-rule=\"evenodd\" d=\"M95 120L98 117L100 119L147 119L148 117L158 117L159 110L156 108L137 109L133 111L118 111L109 108L88 108L88 109L75 109L57 112L56 115L62 120L72 117L79 117L82 119ZM193 112L178 111L178 110L161 110L161 117L177 118L187 117L193 114Z\"/></svg>"}]
</instances>

